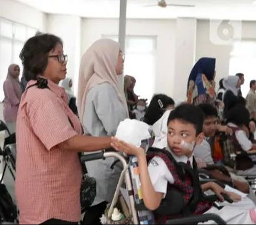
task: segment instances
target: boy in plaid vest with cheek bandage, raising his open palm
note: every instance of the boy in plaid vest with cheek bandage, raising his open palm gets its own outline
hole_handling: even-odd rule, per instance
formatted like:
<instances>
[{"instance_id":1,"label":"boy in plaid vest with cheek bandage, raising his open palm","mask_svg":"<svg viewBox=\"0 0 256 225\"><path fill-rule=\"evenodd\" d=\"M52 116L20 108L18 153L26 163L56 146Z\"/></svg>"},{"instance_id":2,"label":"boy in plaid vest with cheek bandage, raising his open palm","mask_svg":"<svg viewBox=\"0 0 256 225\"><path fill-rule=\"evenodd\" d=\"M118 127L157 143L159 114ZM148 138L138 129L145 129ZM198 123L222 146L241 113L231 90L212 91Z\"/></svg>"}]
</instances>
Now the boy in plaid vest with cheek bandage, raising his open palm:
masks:
<instances>
[{"instance_id":1,"label":"boy in plaid vest with cheek bandage, raising his open palm","mask_svg":"<svg viewBox=\"0 0 256 225\"><path fill-rule=\"evenodd\" d=\"M154 149L156 152L149 155L149 165L142 148L118 139L111 145L138 157L143 201L149 210L155 211L158 222L164 223L177 214L218 213L228 224L254 224L255 209L250 199L242 199L214 182L199 185L193 151L204 138L202 127L203 113L198 107L188 104L177 107L168 119L168 146L165 150ZM202 198L202 191L207 190L212 190L220 201L227 195L236 203L217 210Z\"/></svg>"}]
</instances>

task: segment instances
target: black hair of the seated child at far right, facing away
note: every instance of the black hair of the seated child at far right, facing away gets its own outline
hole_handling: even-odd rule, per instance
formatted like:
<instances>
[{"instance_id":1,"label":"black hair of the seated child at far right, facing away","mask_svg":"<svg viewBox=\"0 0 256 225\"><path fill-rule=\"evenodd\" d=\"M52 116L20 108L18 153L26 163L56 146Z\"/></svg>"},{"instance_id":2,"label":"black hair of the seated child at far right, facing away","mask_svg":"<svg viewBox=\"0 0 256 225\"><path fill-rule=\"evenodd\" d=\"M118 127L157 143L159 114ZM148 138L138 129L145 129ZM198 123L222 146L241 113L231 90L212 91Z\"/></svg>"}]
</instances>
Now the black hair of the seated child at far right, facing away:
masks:
<instances>
[{"instance_id":1,"label":"black hair of the seated child at far right, facing away","mask_svg":"<svg viewBox=\"0 0 256 225\"><path fill-rule=\"evenodd\" d=\"M226 118L227 122L234 123L237 126L247 126L250 122L250 113L244 105L237 104L227 112Z\"/></svg>"}]
</instances>

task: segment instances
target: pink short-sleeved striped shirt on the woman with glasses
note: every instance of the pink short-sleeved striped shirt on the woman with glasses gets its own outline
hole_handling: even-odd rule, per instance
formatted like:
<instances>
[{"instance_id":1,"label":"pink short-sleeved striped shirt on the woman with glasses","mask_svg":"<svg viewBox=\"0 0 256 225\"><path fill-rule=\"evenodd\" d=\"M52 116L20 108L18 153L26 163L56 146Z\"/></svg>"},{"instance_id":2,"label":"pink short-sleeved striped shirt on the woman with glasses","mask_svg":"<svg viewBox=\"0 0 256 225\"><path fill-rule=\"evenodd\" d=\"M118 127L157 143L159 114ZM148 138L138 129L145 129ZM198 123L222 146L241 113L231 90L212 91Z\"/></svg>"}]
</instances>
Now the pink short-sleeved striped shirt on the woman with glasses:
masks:
<instances>
[{"instance_id":1,"label":"pink short-sleeved striped shirt on the woman with glasses","mask_svg":"<svg viewBox=\"0 0 256 225\"><path fill-rule=\"evenodd\" d=\"M81 218L81 164L75 151L58 144L82 134L82 127L65 90L50 80L48 87L28 88L19 106L15 194L20 224Z\"/></svg>"}]
</instances>

